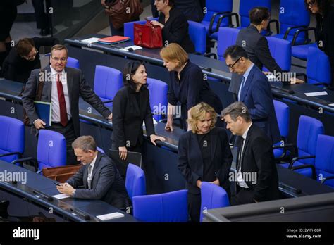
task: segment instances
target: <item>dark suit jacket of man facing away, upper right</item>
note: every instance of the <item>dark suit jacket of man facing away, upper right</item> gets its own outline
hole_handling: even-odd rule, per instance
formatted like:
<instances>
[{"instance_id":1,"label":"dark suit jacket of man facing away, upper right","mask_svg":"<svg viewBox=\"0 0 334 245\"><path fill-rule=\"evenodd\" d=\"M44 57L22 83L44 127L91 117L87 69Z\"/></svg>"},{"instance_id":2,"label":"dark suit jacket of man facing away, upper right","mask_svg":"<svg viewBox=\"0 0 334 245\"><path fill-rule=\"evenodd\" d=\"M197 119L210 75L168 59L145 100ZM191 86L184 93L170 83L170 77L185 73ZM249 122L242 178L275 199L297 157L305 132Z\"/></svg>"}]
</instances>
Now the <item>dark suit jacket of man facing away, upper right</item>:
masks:
<instances>
[{"instance_id":1,"label":"dark suit jacket of man facing away, upper right","mask_svg":"<svg viewBox=\"0 0 334 245\"><path fill-rule=\"evenodd\" d=\"M249 27L240 30L239 34L237 34L236 44L247 51L248 58L261 70L265 66L272 73L274 70L277 73L283 71L273 56L271 56L268 40L259 33L254 25L249 25ZM237 94L241 80L242 76L233 73L228 91Z\"/></svg>"}]
</instances>

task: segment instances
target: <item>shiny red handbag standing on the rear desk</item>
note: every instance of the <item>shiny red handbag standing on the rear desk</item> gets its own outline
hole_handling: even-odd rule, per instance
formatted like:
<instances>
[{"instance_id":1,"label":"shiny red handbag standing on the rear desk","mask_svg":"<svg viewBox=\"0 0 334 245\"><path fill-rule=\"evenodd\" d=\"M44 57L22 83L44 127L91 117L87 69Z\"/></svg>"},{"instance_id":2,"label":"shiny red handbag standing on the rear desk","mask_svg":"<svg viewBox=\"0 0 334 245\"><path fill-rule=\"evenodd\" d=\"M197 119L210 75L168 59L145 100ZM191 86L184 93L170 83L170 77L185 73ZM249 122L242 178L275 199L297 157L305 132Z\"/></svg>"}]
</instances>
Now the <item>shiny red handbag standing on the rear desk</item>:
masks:
<instances>
[{"instance_id":1,"label":"shiny red handbag standing on the rear desk","mask_svg":"<svg viewBox=\"0 0 334 245\"><path fill-rule=\"evenodd\" d=\"M162 47L162 31L159 25L152 25L147 21L145 25L135 23L133 28L135 45L148 49L159 49Z\"/></svg>"}]
</instances>

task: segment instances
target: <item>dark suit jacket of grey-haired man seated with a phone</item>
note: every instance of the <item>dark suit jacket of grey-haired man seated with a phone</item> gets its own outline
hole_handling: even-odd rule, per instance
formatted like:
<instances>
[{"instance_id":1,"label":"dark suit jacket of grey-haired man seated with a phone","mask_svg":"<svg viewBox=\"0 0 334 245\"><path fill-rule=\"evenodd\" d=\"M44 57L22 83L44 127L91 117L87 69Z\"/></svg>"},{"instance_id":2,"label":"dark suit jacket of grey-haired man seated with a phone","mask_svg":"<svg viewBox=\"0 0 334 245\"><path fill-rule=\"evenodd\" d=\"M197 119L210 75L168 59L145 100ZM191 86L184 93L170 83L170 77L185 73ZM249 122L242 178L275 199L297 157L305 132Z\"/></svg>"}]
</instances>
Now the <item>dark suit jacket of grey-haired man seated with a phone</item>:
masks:
<instances>
[{"instance_id":1,"label":"dark suit jacket of grey-haired man seated with a phone","mask_svg":"<svg viewBox=\"0 0 334 245\"><path fill-rule=\"evenodd\" d=\"M97 161L92 170L91 189L87 183L88 164L70 177L66 182L75 188L74 197L78 199L101 199L116 208L125 208L130 204L123 178L111 159L103 153L97 153ZM83 189L77 189L83 187Z\"/></svg>"}]
</instances>

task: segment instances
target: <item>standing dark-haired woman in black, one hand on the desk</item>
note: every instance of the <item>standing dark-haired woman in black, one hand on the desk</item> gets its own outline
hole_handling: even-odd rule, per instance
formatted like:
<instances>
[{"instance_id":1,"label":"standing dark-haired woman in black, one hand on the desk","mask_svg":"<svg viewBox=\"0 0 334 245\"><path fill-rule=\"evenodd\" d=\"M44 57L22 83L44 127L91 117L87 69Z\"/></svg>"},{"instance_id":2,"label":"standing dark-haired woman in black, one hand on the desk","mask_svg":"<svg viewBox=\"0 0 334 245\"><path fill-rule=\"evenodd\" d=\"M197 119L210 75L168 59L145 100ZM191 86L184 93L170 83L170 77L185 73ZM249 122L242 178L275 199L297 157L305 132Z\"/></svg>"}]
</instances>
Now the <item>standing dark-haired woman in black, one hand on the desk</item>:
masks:
<instances>
[{"instance_id":1,"label":"standing dark-haired woman in black, one hand on the desk","mask_svg":"<svg viewBox=\"0 0 334 245\"><path fill-rule=\"evenodd\" d=\"M128 151L141 152L144 141L142 122L145 122L147 137L152 144L165 140L154 132L147 73L143 63L130 61L123 71L124 87L113 98L112 148L119 150L120 158L126 159Z\"/></svg>"}]
</instances>

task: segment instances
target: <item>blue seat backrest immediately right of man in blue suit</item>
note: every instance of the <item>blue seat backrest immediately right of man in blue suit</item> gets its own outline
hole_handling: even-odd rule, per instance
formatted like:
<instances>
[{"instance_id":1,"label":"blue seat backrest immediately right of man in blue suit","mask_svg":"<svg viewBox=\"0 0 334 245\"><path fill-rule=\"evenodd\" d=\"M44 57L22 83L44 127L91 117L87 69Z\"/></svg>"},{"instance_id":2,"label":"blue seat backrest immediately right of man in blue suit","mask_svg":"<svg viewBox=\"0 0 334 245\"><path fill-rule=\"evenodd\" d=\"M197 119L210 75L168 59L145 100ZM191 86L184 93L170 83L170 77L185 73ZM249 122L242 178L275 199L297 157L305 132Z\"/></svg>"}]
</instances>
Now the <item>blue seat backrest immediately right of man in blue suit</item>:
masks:
<instances>
[{"instance_id":1,"label":"blue seat backrest immediately right of man in blue suit","mask_svg":"<svg viewBox=\"0 0 334 245\"><path fill-rule=\"evenodd\" d=\"M286 103L273 100L280 136L287 138L289 135L290 108Z\"/></svg>"}]
</instances>

